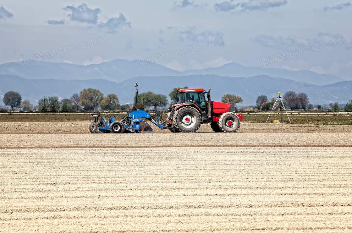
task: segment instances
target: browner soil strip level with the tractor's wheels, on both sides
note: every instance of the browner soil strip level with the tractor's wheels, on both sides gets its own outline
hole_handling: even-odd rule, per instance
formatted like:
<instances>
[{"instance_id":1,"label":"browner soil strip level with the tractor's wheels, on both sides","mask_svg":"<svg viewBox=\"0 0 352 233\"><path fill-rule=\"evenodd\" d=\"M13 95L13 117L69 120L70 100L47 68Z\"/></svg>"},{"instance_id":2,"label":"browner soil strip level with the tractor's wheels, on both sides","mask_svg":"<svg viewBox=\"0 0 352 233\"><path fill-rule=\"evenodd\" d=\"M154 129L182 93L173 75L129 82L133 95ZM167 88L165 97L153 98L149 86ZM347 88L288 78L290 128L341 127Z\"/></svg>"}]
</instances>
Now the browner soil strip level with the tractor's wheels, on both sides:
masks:
<instances>
[{"instance_id":1,"label":"browner soil strip level with the tractor's wheels, on both sides","mask_svg":"<svg viewBox=\"0 0 352 233\"><path fill-rule=\"evenodd\" d=\"M149 122L153 133L171 133L169 130L160 130ZM90 133L89 121L66 122L4 122L0 126L0 134L23 133ZM197 132L214 132L210 124L201 125ZM273 124L241 122L238 132L244 133L352 133L352 125L313 125L313 124Z\"/></svg>"}]
</instances>

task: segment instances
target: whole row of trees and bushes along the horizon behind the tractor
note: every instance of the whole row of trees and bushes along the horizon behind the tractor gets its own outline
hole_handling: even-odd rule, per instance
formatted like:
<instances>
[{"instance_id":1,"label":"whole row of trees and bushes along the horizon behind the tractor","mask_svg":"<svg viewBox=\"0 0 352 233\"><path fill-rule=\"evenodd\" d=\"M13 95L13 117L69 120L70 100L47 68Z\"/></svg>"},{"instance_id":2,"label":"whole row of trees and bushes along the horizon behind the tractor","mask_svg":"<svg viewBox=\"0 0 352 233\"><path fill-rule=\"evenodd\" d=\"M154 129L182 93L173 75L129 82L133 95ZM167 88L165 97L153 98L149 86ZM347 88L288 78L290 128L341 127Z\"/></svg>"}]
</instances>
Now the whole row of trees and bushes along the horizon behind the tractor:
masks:
<instances>
[{"instance_id":1,"label":"whole row of trees and bushes along the horizon behind the tractor","mask_svg":"<svg viewBox=\"0 0 352 233\"><path fill-rule=\"evenodd\" d=\"M188 87L183 87L188 88ZM178 89L182 89L179 87ZM176 88L174 88L169 97L171 99L170 103L165 95L155 94L153 92L140 93L138 95L137 108L162 108L168 105L173 105L178 103L179 94ZM282 100L286 108L290 109L313 109L313 105L309 103L309 98L306 93L295 93L294 91L288 91L282 96ZM268 100L265 95L259 95L256 100L256 108L259 111L269 111L274 106L276 98ZM38 105L33 106L29 100L23 100L19 93L17 92L7 92L4 95L3 102L6 106L10 107L12 111L14 108L22 109L22 111L40 111L40 112L68 112L68 111L93 111L94 109L101 108L106 111L116 111L116 110L127 110L130 105L120 105L119 98L116 94L108 94L104 96L100 90L87 88L81 90L80 93L73 94L69 99L62 99L56 95L53 96L43 96L39 101ZM221 102L230 103L236 107L237 103L243 102L243 99L234 94L225 94L221 97ZM333 111L338 111L338 103L331 103L329 107ZM320 105L317 106L318 109L321 108ZM345 111L352 111L352 100L346 103L344 107Z\"/></svg>"}]
</instances>

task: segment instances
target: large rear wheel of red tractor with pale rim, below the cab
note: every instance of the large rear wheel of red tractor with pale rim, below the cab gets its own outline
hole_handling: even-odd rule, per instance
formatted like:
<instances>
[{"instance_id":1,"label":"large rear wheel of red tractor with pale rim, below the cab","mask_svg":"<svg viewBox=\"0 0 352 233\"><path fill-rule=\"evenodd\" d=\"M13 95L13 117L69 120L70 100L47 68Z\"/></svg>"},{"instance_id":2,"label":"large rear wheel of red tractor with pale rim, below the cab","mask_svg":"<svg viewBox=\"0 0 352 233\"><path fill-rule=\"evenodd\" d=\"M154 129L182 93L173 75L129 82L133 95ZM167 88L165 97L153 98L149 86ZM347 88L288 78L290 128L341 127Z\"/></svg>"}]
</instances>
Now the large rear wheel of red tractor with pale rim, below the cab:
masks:
<instances>
[{"instance_id":1,"label":"large rear wheel of red tractor with pale rim, below the cab","mask_svg":"<svg viewBox=\"0 0 352 233\"><path fill-rule=\"evenodd\" d=\"M177 109L172 118L175 132L196 132L201 124L200 113L191 106Z\"/></svg>"}]
</instances>

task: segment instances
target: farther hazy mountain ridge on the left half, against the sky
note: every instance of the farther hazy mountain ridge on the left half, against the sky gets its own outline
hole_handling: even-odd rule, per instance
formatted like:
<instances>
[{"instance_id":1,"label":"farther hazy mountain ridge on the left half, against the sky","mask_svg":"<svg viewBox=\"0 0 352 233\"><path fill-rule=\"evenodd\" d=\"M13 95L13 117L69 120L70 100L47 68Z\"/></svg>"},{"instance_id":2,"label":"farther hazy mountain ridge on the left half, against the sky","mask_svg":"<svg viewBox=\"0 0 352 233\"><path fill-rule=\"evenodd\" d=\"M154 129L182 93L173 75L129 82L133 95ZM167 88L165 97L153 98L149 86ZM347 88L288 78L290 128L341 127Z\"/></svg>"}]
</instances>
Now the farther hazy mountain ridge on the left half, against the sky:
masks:
<instances>
[{"instance_id":1,"label":"farther hazy mountain ridge on the left half, against the sky","mask_svg":"<svg viewBox=\"0 0 352 233\"><path fill-rule=\"evenodd\" d=\"M104 79L121 82L136 76L170 76L180 75L157 63L140 66L138 60L127 61L115 59L92 65L76 65L59 62L33 62L19 66L17 62L0 65L0 75L16 75L29 79L90 80Z\"/></svg>"}]
</instances>

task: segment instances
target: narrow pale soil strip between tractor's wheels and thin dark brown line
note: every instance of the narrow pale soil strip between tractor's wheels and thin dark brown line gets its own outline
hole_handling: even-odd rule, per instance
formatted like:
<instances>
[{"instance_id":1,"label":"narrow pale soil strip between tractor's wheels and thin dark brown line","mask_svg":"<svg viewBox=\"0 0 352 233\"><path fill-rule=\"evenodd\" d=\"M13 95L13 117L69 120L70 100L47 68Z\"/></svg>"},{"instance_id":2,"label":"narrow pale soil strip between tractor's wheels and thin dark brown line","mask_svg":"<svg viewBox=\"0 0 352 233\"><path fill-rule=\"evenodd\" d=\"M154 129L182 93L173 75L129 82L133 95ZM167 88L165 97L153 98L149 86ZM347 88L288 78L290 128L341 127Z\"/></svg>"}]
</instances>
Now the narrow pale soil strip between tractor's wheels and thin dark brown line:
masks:
<instances>
[{"instance_id":1,"label":"narrow pale soil strip between tractor's wheels and thin dark brown line","mask_svg":"<svg viewBox=\"0 0 352 233\"><path fill-rule=\"evenodd\" d=\"M352 133L1 134L0 149L351 146Z\"/></svg>"}]
</instances>

